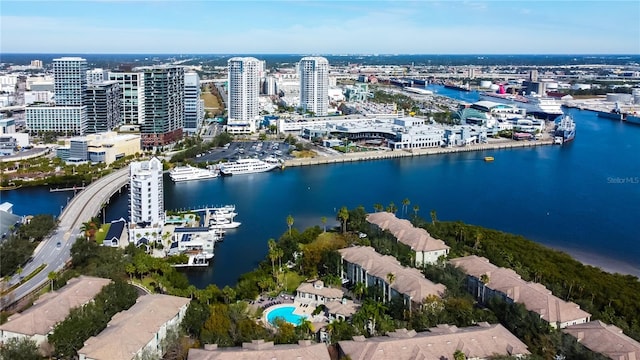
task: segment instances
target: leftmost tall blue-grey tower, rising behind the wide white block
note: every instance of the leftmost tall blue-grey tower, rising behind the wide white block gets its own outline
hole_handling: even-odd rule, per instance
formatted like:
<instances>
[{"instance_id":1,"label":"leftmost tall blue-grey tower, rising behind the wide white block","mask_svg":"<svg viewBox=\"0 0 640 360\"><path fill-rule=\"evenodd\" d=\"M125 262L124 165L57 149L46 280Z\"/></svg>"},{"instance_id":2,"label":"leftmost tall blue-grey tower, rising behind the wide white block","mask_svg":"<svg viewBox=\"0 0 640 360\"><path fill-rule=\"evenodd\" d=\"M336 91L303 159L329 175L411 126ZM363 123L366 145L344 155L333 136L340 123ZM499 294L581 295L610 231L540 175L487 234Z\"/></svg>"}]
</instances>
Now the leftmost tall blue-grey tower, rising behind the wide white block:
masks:
<instances>
[{"instance_id":1,"label":"leftmost tall blue-grey tower, rising behind the wide white block","mask_svg":"<svg viewBox=\"0 0 640 360\"><path fill-rule=\"evenodd\" d=\"M53 59L53 81L56 105L84 105L87 60L80 57Z\"/></svg>"}]
</instances>

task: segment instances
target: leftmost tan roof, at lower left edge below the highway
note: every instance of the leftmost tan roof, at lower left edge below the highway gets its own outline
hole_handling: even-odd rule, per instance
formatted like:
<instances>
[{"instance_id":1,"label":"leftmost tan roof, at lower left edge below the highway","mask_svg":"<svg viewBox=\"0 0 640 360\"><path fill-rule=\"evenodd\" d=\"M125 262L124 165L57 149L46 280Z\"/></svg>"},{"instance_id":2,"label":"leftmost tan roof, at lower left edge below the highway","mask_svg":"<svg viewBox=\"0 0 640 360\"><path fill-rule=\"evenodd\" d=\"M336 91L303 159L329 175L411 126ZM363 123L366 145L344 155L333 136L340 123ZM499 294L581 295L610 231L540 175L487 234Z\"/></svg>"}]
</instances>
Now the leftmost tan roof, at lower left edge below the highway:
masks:
<instances>
[{"instance_id":1,"label":"leftmost tan roof, at lower left edge below the highway","mask_svg":"<svg viewBox=\"0 0 640 360\"><path fill-rule=\"evenodd\" d=\"M72 308L93 300L111 280L81 275L69 280L58 291L42 295L33 306L15 314L0 330L24 335L46 335L64 320Z\"/></svg>"}]
</instances>

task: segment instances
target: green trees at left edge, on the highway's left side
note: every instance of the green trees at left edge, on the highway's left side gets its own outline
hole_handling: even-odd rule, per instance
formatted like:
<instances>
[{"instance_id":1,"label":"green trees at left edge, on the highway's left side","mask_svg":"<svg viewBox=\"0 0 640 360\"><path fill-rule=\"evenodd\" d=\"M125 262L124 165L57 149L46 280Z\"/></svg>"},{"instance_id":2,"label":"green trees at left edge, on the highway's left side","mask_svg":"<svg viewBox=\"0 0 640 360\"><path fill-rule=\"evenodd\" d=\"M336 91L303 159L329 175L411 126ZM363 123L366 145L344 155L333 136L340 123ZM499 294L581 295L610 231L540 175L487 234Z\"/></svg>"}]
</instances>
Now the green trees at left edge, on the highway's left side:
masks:
<instances>
[{"instance_id":1,"label":"green trees at left edge, on the highway's left side","mask_svg":"<svg viewBox=\"0 0 640 360\"><path fill-rule=\"evenodd\" d=\"M36 215L28 224L20 225L0 245L0 276L15 273L33 255L33 250L56 227L50 215Z\"/></svg>"}]
</instances>

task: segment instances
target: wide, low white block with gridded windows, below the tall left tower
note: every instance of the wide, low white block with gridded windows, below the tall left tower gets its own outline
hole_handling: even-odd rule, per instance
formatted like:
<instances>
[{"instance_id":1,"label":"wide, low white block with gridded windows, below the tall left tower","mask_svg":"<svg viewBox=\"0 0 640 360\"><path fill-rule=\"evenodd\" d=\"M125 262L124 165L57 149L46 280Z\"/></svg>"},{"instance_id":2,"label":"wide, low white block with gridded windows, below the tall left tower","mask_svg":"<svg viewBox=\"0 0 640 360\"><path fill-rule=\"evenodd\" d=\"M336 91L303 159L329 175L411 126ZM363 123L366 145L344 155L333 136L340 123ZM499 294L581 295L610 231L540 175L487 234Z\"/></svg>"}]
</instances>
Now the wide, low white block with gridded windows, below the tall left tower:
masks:
<instances>
[{"instance_id":1,"label":"wide, low white block with gridded windows, below the tall left tower","mask_svg":"<svg viewBox=\"0 0 640 360\"><path fill-rule=\"evenodd\" d=\"M27 106L25 113L31 134L52 131L83 135L87 131L86 106L33 105Z\"/></svg>"}]
</instances>

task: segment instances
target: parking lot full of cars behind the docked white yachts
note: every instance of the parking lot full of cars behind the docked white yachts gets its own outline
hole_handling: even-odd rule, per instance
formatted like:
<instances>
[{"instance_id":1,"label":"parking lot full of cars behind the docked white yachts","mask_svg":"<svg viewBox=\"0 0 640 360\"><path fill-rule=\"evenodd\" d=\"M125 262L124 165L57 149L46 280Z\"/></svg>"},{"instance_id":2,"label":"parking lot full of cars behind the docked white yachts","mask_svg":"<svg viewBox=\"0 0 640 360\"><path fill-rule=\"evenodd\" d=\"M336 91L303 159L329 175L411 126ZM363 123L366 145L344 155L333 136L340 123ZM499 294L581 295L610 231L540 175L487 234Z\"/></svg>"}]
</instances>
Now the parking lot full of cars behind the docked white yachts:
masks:
<instances>
[{"instance_id":1,"label":"parking lot full of cars behind the docked white yachts","mask_svg":"<svg viewBox=\"0 0 640 360\"><path fill-rule=\"evenodd\" d=\"M290 159L289 144L282 141L236 141L224 148L211 149L206 153L199 154L194 160L198 163L209 162L213 164L240 158L265 159L268 157L282 160Z\"/></svg>"}]
</instances>

